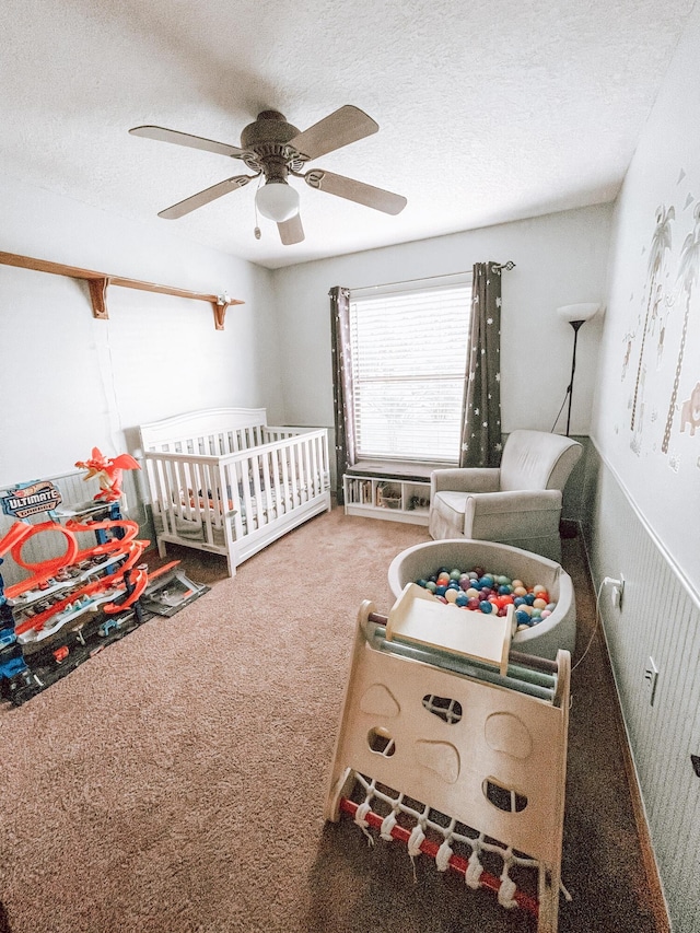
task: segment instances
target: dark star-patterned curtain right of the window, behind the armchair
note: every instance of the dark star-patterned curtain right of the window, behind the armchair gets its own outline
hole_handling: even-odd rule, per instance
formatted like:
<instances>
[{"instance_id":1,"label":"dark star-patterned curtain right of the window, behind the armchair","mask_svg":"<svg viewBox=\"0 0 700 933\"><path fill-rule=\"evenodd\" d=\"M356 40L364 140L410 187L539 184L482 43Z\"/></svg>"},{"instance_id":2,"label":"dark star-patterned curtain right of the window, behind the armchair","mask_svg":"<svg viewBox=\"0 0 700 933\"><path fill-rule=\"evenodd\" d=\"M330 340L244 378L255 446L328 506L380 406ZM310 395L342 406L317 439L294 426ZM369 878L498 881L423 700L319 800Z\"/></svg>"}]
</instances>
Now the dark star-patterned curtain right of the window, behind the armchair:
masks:
<instances>
[{"instance_id":1,"label":"dark star-patterned curtain right of the window, behind the armchair","mask_svg":"<svg viewBox=\"0 0 700 933\"><path fill-rule=\"evenodd\" d=\"M462 467L501 462L501 266L477 263L465 380Z\"/></svg>"}]
</instances>

